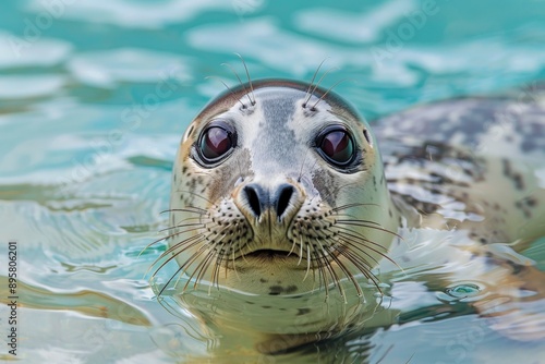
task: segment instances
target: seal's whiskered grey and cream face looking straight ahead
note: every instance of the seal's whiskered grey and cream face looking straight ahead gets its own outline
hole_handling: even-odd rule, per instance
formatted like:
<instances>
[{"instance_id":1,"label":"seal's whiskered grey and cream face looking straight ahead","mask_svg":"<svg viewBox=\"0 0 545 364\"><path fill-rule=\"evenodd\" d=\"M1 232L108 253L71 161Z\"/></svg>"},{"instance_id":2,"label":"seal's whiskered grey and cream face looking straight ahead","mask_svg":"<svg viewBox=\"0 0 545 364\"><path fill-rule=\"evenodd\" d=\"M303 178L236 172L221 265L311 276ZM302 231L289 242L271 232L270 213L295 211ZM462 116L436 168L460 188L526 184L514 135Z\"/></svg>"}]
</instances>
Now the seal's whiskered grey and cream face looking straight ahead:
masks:
<instances>
[{"instance_id":1,"label":"seal's whiskered grey and cream face looking straight ahead","mask_svg":"<svg viewBox=\"0 0 545 364\"><path fill-rule=\"evenodd\" d=\"M375 279L398 217L367 123L334 94L270 80L192 122L170 223L169 252L194 284L279 295L350 280L361 294L354 276Z\"/></svg>"}]
</instances>

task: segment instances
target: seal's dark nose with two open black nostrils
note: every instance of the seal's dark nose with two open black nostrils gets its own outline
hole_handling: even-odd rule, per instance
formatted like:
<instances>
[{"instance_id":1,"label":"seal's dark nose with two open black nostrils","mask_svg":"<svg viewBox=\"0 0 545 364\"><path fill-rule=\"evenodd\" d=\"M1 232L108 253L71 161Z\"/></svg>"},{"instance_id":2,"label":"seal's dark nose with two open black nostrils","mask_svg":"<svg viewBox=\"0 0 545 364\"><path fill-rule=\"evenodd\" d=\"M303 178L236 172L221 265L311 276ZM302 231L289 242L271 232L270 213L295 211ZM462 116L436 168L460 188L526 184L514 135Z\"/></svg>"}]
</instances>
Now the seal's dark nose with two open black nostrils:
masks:
<instances>
[{"instance_id":1,"label":"seal's dark nose with two open black nostrils","mask_svg":"<svg viewBox=\"0 0 545 364\"><path fill-rule=\"evenodd\" d=\"M272 209L280 220L295 195L295 189L288 183L280 184L271 192L259 184L251 183L244 186L242 192L243 199L247 202L250 210L256 218L259 218L267 209Z\"/></svg>"}]
</instances>

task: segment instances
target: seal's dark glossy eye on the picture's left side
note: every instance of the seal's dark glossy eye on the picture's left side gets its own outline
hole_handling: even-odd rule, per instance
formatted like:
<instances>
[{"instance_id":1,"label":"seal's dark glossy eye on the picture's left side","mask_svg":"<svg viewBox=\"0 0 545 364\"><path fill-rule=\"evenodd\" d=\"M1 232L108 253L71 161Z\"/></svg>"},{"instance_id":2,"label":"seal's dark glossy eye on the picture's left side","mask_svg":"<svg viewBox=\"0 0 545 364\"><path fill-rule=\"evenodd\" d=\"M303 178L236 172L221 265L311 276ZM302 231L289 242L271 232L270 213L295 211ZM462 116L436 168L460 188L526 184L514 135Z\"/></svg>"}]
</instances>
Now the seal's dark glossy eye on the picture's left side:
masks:
<instances>
[{"instance_id":1,"label":"seal's dark glossy eye on the picture's left side","mask_svg":"<svg viewBox=\"0 0 545 364\"><path fill-rule=\"evenodd\" d=\"M234 134L225 125L213 125L201 135L198 154L205 162L214 162L234 147Z\"/></svg>"}]
</instances>

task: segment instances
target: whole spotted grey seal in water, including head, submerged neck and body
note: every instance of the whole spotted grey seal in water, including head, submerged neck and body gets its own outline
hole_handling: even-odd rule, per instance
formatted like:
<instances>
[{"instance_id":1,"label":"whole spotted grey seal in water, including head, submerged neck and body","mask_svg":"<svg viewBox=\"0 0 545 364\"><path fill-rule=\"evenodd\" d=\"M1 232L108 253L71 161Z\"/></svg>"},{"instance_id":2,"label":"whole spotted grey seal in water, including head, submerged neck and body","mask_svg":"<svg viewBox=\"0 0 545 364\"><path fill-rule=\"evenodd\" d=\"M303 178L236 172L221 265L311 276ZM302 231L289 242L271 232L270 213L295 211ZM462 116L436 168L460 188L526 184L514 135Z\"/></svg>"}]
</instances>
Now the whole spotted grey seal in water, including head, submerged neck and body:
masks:
<instances>
[{"instance_id":1,"label":"whole spotted grey seal in water, including head, submerged neck and body","mask_svg":"<svg viewBox=\"0 0 545 364\"><path fill-rule=\"evenodd\" d=\"M399 323L392 298L403 280L473 287L469 305L497 323L509 315L491 294L545 298L543 272L511 248L545 235L545 179L516 162L541 163L543 174L543 111L460 99L385 118L373 132L313 83L229 89L192 121L175 157L159 269L172 259L179 268L159 294L182 279L180 303L225 342L243 336L232 347L276 354ZM511 119L492 133L498 116ZM462 268L407 271L431 262ZM529 336L543 338L543 323Z\"/></svg>"}]
</instances>

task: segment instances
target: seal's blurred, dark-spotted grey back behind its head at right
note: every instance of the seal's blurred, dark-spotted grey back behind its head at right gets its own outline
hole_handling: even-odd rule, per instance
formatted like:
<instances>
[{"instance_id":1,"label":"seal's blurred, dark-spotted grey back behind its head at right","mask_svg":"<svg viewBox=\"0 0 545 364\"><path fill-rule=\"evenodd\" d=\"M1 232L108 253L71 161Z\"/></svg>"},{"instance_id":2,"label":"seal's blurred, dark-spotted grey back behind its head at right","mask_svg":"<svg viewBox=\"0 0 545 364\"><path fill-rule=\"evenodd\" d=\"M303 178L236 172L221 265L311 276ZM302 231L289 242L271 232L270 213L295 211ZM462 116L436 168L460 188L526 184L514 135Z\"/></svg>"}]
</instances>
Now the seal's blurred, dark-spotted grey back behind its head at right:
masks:
<instances>
[{"instance_id":1,"label":"seal's blurred, dark-spotted grey back behind its head at right","mask_svg":"<svg viewBox=\"0 0 545 364\"><path fill-rule=\"evenodd\" d=\"M468 229L481 243L541 236L545 106L540 95L449 100L379 120L375 132L389 151L384 158L390 190L424 219L440 215L429 225L434 229L438 223Z\"/></svg>"}]
</instances>

